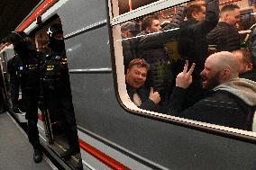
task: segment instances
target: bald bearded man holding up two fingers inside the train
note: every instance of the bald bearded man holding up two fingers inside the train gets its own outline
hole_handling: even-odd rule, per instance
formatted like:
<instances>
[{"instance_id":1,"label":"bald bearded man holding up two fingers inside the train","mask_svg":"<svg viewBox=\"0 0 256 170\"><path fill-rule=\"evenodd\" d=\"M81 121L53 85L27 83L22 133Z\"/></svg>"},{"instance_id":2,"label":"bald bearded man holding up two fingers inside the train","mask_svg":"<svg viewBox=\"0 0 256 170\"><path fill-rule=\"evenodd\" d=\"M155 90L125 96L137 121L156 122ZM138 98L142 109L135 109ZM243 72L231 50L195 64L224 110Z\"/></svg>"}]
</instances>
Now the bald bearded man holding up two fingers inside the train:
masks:
<instances>
[{"instance_id":1,"label":"bald bearded man holding up two fingers inside the train","mask_svg":"<svg viewBox=\"0 0 256 170\"><path fill-rule=\"evenodd\" d=\"M187 67L188 62L176 78L176 87L170 97L169 114L251 130L251 113L256 106L256 83L238 77L238 63L232 53L222 51L206 59L200 76L203 79L203 88L209 92L198 103L180 112L186 98L186 89L192 83L191 74L195 66L192 65L189 70Z\"/></svg>"}]
</instances>

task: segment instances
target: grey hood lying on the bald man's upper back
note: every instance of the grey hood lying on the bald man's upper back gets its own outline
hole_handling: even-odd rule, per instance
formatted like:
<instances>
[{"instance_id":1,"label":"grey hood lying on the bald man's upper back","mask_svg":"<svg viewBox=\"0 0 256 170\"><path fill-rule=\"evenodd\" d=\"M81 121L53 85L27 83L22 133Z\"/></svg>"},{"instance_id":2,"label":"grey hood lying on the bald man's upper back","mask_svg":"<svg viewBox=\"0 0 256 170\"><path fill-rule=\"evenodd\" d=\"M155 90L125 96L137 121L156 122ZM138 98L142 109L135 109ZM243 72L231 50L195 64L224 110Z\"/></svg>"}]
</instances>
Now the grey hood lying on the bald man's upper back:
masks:
<instances>
[{"instance_id":1,"label":"grey hood lying on the bald man's upper back","mask_svg":"<svg viewBox=\"0 0 256 170\"><path fill-rule=\"evenodd\" d=\"M256 106L256 82L245 78L233 78L222 85L217 85L214 91L223 90L239 97L244 103Z\"/></svg>"}]
</instances>

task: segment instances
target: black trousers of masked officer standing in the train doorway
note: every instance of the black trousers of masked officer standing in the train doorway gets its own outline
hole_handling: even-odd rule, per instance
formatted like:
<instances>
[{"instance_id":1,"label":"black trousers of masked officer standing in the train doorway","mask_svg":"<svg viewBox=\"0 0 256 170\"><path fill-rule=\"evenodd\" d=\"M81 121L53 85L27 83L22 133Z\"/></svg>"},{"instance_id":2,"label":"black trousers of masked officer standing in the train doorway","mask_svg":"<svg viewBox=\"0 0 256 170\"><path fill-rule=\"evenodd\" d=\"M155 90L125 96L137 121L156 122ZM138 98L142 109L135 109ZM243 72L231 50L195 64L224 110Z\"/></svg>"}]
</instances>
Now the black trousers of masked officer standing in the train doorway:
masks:
<instances>
[{"instance_id":1,"label":"black trousers of masked officer standing in the train doorway","mask_svg":"<svg viewBox=\"0 0 256 170\"><path fill-rule=\"evenodd\" d=\"M59 127L64 130L69 148L79 151L78 130L71 95L50 93L45 95L45 102L50 113L56 116Z\"/></svg>"}]
</instances>

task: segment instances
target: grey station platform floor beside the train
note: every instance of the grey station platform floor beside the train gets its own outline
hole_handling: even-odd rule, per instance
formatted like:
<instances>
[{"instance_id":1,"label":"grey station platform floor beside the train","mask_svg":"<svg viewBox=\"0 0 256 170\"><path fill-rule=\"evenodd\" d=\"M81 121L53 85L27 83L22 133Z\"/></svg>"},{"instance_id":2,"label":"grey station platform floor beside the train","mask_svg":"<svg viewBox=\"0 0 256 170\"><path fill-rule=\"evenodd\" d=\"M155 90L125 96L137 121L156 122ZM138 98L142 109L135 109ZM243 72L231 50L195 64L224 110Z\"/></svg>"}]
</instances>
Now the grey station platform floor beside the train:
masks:
<instances>
[{"instance_id":1,"label":"grey station platform floor beside the train","mask_svg":"<svg viewBox=\"0 0 256 170\"><path fill-rule=\"evenodd\" d=\"M33 149L23 130L7 112L0 114L0 170L57 169L43 156L41 163L33 162Z\"/></svg>"}]
</instances>

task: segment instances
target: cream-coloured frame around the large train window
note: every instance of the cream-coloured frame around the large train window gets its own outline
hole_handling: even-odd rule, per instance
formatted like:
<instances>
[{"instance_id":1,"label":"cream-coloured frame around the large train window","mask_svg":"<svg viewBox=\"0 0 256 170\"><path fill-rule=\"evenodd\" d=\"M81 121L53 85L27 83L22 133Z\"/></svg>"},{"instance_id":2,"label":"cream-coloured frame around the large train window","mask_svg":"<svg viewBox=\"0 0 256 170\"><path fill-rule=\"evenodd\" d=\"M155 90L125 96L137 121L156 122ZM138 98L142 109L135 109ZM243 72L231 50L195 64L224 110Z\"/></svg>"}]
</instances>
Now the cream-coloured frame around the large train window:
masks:
<instances>
[{"instance_id":1,"label":"cream-coloured frame around the large train window","mask_svg":"<svg viewBox=\"0 0 256 170\"><path fill-rule=\"evenodd\" d=\"M110 13L110 26L111 26L111 43L113 45L113 61L115 66L115 81L117 88L117 95L123 108L128 112L135 115L141 115L153 120L169 122L172 124L177 124L179 126L187 127L194 130L202 130L209 133L214 133L219 136L228 137L231 139L239 139L246 142L256 143L256 132L247 130L238 130L225 126L215 125L211 123L193 121L184 118L179 118L175 116L170 116L160 112L151 112L138 108L130 99L127 94L124 66L123 66L123 47L122 47L122 37L121 37L121 23L129 22L136 18L142 17L147 14L157 13L170 7L175 7L178 4L187 3L187 1L157 1L152 4L146 4L145 6L139 7L128 13L123 13L121 15L116 14L116 6L118 0L109 0L109 13ZM169 4L168 4L169 3ZM115 13L115 14L113 14ZM114 17L113 17L114 16Z\"/></svg>"}]
</instances>

